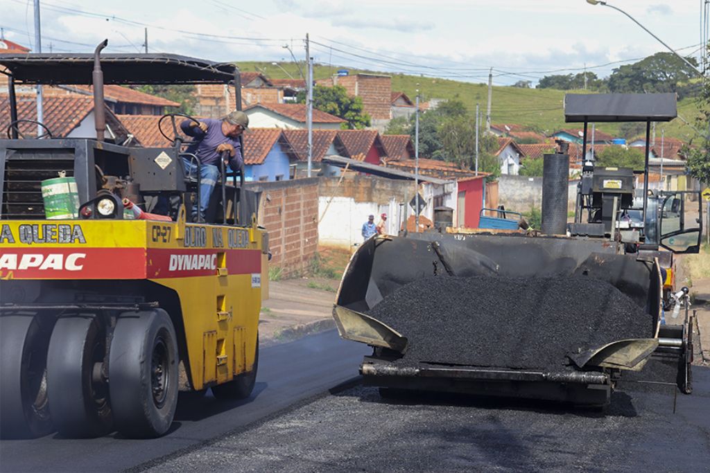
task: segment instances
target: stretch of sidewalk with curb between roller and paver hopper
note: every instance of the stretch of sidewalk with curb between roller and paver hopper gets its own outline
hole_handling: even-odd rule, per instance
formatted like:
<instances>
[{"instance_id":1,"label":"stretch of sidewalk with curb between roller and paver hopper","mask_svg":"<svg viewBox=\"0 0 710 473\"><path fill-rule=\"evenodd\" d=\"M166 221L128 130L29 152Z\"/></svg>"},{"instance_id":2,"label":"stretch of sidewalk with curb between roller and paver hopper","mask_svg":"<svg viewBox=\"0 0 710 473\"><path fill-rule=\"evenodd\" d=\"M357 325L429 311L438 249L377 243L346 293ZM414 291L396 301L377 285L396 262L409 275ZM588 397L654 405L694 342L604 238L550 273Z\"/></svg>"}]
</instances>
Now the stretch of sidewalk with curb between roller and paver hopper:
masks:
<instances>
[{"instance_id":1,"label":"stretch of sidewalk with curb between roller and paver hopper","mask_svg":"<svg viewBox=\"0 0 710 473\"><path fill-rule=\"evenodd\" d=\"M310 333L334 328L332 318L339 281L309 278L269 282L269 299L259 314L261 346L277 345ZM332 291L314 289L329 287Z\"/></svg>"}]
</instances>

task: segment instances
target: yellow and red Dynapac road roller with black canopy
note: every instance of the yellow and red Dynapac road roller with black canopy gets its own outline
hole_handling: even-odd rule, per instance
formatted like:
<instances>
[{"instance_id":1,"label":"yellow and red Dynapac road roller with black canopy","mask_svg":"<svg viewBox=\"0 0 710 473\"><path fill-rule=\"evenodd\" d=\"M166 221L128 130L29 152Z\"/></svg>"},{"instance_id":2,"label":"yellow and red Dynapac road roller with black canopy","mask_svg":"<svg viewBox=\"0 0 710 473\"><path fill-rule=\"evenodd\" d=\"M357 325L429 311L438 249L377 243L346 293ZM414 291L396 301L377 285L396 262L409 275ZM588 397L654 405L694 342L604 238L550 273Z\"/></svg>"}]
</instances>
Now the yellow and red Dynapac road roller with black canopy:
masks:
<instances>
[{"instance_id":1,"label":"yellow and red Dynapac road roller with black canopy","mask_svg":"<svg viewBox=\"0 0 710 473\"><path fill-rule=\"evenodd\" d=\"M2 438L155 437L170 429L178 391L242 399L254 386L268 235L243 169L229 185L222 169L203 221L191 211L199 185L182 171L197 157L182 151L176 117L160 123L173 146L116 143L103 100L104 82L231 84L239 100L239 71L101 56L106 44L94 55L0 55L10 84L0 115ZM18 116L16 84L93 84L96 138L51 138ZM146 213L160 199L170 215Z\"/></svg>"}]
</instances>

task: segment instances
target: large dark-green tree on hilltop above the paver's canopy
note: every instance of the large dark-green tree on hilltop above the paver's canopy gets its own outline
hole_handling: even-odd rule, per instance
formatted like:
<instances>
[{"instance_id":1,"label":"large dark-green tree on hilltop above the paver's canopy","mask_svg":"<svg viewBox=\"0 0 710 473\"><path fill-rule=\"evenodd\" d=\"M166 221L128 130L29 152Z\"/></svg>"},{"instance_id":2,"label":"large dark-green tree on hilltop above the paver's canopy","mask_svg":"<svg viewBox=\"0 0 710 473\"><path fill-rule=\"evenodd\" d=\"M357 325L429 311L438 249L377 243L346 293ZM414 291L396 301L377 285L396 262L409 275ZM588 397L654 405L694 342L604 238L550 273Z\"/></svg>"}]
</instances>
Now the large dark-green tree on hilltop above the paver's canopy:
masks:
<instances>
[{"instance_id":1,"label":"large dark-green tree on hilltop above the paver's canopy","mask_svg":"<svg viewBox=\"0 0 710 473\"><path fill-rule=\"evenodd\" d=\"M697 66L693 57L686 59ZM697 72L677 55L657 52L639 62L613 69L607 85L613 93L677 92L680 82L696 76Z\"/></svg>"}]
</instances>

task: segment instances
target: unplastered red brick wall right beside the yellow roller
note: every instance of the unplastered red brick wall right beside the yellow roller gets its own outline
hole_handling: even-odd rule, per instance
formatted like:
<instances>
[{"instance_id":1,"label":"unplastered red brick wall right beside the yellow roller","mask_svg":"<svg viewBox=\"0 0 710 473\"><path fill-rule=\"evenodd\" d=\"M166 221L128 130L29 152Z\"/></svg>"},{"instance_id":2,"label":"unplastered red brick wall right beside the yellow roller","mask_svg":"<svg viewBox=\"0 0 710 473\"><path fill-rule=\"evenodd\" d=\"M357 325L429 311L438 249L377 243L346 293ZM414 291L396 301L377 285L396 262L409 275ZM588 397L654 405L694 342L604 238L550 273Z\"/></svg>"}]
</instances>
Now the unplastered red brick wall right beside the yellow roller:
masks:
<instances>
[{"instance_id":1,"label":"unplastered red brick wall right beside the yellow roller","mask_svg":"<svg viewBox=\"0 0 710 473\"><path fill-rule=\"evenodd\" d=\"M261 191L259 224L269 235L270 267L283 277L305 272L318 247L318 179L248 184Z\"/></svg>"}]
</instances>

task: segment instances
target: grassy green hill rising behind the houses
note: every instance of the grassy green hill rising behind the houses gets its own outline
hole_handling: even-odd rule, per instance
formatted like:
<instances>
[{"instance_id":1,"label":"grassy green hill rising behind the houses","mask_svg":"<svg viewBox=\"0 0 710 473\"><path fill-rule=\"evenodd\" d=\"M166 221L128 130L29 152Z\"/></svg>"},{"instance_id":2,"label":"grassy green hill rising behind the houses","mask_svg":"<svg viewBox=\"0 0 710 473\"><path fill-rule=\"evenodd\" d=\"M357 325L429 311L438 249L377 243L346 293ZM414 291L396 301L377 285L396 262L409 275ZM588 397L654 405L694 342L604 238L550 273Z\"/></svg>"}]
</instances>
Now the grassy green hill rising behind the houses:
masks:
<instances>
[{"instance_id":1,"label":"grassy green hill rising behind the houses","mask_svg":"<svg viewBox=\"0 0 710 473\"><path fill-rule=\"evenodd\" d=\"M286 79L285 69L293 77L300 77L297 66L293 62L279 62L278 66L271 62L238 62L243 72L263 72L274 79ZM279 67L280 66L280 67ZM281 69L283 67L283 69ZM305 66L301 65L305 74ZM337 72L342 67L327 67L315 65L313 75L315 79L324 79ZM370 72L374 74L388 74L386 72L349 69L351 74L356 72ZM422 96L422 101L428 99L454 99L458 98L466 104L466 108L474 116L476 104L481 109L481 120L485 120L486 101L488 100L487 84L473 84L471 82L458 82L450 79L437 79L432 77L417 77L406 74L388 74L392 76L392 90L403 91L410 99L414 100L417 89ZM493 79L495 84L495 79ZM518 87L503 87L493 85L493 99L491 104L491 121L493 123L516 123L528 126L534 130L552 133L560 128L581 128L581 123L564 123L562 101L564 94L583 91L561 91L555 89L520 89ZM692 127L684 123L694 124L699 111L694 99L683 99L678 102L678 115L670 123L657 123L656 139L660 139L662 129L665 135L690 140L694 135ZM612 135L618 135L617 123L600 123L597 129Z\"/></svg>"}]
</instances>

